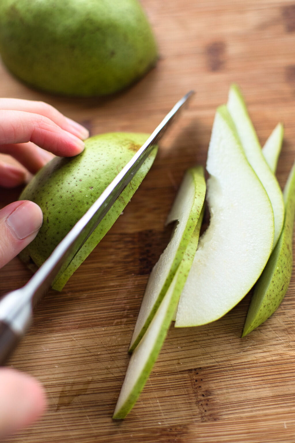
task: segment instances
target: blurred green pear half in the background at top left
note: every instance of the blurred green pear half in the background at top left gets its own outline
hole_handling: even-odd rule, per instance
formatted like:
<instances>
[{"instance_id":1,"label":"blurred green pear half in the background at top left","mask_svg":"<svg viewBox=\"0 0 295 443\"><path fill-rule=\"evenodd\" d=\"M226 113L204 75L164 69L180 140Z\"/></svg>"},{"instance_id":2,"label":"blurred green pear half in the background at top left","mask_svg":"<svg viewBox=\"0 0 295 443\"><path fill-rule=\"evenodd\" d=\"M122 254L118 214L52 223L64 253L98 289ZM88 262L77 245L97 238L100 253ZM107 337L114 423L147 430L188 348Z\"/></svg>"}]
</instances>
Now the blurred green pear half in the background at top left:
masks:
<instances>
[{"instance_id":1,"label":"blurred green pear half in the background at top left","mask_svg":"<svg viewBox=\"0 0 295 443\"><path fill-rule=\"evenodd\" d=\"M0 55L27 85L89 97L141 78L157 45L138 0L1 0Z\"/></svg>"}]
</instances>

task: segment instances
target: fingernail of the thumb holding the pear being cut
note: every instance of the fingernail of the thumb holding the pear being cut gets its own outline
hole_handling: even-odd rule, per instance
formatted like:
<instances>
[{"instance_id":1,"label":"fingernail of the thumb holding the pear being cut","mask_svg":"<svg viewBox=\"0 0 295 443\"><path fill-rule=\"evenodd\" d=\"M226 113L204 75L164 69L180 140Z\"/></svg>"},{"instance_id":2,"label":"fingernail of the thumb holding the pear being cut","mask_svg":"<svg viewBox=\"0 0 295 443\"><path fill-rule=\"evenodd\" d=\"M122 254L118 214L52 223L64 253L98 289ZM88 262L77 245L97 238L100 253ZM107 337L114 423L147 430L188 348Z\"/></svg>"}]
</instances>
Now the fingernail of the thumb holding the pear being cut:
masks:
<instances>
[{"instance_id":1,"label":"fingernail of the thumb holding the pear being cut","mask_svg":"<svg viewBox=\"0 0 295 443\"><path fill-rule=\"evenodd\" d=\"M42 211L35 203L26 201L8 216L6 223L13 236L17 240L23 240L40 229Z\"/></svg>"}]
</instances>

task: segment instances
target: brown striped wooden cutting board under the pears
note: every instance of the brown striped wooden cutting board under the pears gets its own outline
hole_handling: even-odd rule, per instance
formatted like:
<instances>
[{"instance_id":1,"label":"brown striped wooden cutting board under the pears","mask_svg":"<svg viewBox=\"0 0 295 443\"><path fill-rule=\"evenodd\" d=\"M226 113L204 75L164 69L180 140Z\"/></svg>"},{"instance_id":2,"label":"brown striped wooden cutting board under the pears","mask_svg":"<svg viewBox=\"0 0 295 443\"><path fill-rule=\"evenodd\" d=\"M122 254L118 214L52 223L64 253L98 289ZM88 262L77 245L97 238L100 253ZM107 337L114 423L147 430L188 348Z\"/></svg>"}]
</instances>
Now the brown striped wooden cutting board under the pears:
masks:
<instances>
[{"instance_id":1,"label":"brown striped wooden cutting board under the pears","mask_svg":"<svg viewBox=\"0 0 295 443\"><path fill-rule=\"evenodd\" d=\"M295 442L295 273L275 315L241 339L250 295L207 326L169 331L137 404L112 412L153 264L167 245L165 218L184 171L205 165L211 127L238 83L263 144L278 121L285 137L277 176L295 159L294 0L142 0L161 57L110 99L70 100L21 85L0 66L0 96L43 100L90 128L152 130L189 89L188 110L124 214L69 280L50 291L8 362L45 386L48 410L17 443ZM1 205L20 192L1 189ZM0 270L1 294L30 277L17 258ZM238 276L237 276L238 277Z\"/></svg>"}]
</instances>

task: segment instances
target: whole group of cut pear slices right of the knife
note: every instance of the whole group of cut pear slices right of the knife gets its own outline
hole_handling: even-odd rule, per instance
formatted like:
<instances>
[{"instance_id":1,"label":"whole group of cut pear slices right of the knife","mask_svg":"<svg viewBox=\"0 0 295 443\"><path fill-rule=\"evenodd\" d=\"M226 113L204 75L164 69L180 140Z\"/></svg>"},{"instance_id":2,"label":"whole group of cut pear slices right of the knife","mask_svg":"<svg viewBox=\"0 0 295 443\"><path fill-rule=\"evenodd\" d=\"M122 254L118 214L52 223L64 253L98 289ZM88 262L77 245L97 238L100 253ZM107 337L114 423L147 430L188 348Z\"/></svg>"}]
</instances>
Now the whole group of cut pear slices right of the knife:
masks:
<instances>
[{"instance_id":1,"label":"whole group of cut pear slices right of the knife","mask_svg":"<svg viewBox=\"0 0 295 443\"><path fill-rule=\"evenodd\" d=\"M123 419L134 406L172 320L176 327L213 322L253 288L243 336L281 303L291 280L295 164L284 194L275 176L283 140L278 124L263 148L236 85L215 115L202 167L186 172L168 222L169 245L149 277L132 352L115 407ZM210 223L203 235L204 199Z\"/></svg>"}]
</instances>

